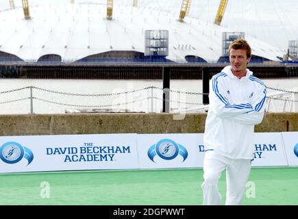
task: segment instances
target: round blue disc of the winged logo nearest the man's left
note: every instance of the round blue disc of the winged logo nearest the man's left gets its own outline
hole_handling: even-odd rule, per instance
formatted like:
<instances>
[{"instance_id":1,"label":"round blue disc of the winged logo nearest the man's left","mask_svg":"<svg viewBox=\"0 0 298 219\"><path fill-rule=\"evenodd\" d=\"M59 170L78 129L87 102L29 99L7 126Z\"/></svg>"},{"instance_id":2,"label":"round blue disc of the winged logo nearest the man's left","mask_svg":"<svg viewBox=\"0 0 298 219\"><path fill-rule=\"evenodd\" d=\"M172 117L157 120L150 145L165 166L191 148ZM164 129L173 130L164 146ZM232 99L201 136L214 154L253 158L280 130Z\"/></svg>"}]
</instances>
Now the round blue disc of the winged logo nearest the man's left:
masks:
<instances>
[{"instance_id":1,"label":"round blue disc of the winged logo nearest the man's left","mask_svg":"<svg viewBox=\"0 0 298 219\"><path fill-rule=\"evenodd\" d=\"M156 153L162 159L174 159L179 153L179 146L171 139L163 139L156 144Z\"/></svg>"}]
</instances>

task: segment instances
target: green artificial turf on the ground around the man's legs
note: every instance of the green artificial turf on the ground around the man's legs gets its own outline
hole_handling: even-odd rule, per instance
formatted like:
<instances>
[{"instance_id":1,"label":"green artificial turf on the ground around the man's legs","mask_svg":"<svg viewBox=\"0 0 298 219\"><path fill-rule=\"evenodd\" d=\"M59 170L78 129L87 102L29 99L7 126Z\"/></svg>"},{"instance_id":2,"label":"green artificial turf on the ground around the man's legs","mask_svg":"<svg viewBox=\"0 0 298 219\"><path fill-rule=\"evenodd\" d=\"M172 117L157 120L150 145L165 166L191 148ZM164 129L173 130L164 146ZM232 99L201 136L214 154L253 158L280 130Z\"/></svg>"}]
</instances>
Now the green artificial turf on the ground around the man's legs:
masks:
<instances>
[{"instance_id":1,"label":"green artificial turf on the ground around the man's legs","mask_svg":"<svg viewBox=\"0 0 298 219\"><path fill-rule=\"evenodd\" d=\"M0 205L201 205L202 182L199 168L1 174ZM252 168L247 185L243 205L298 205L298 168ZM225 174L219 190L224 203Z\"/></svg>"}]
</instances>

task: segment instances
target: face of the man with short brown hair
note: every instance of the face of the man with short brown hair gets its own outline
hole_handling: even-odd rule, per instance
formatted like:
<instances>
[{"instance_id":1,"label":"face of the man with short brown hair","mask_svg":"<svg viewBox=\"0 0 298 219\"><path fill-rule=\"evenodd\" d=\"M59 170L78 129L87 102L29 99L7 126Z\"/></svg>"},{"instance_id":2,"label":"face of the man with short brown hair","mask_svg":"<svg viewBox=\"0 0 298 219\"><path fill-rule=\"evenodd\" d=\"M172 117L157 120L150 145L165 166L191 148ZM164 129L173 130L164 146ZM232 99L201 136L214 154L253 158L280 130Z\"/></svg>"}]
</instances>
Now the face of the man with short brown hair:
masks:
<instances>
[{"instance_id":1,"label":"face of the man with short brown hair","mask_svg":"<svg viewBox=\"0 0 298 219\"><path fill-rule=\"evenodd\" d=\"M247 63L251 58L247 57L245 49L231 49L229 51L229 62L235 72L246 72Z\"/></svg>"}]
</instances>

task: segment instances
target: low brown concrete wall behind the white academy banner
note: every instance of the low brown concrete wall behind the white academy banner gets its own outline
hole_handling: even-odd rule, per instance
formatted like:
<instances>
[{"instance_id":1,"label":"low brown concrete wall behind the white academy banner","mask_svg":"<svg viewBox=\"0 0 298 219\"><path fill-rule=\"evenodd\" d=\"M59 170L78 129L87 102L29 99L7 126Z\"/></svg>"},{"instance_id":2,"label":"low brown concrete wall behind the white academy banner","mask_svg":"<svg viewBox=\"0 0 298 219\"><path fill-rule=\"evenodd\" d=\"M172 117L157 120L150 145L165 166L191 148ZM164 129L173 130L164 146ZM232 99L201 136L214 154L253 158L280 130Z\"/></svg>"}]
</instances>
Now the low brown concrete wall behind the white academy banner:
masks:
<instances>
[{"instance_id":1,"label":"low brown concrete wall behind the white academy banner","mask_svg":"<svg viewBox=\"0 0 298 219\"><path fill-rule=\"evenodd\" d=\"M1 115L0 136L92 133L203 133L207 114ZM179 116L177 116L179 117ZM298 131L298 113L270 113L256 132Z\"/></svg>"}]
</instances>

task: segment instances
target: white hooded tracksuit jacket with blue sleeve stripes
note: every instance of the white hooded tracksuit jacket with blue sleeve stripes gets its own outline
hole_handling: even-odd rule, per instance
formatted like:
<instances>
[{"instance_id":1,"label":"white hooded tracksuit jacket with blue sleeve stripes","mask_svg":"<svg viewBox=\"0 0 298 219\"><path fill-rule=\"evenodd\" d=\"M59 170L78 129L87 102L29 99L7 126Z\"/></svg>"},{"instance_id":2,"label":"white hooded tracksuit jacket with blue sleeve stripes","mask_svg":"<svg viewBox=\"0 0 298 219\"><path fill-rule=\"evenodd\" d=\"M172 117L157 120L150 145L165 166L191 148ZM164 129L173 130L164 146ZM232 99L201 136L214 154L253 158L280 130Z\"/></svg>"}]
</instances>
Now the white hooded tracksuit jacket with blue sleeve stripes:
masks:
<instances>
[{"instance_id":1,"label":"white hooded tracksuit jacket with blue sleeve stripes","mask_svg":"<svg viewBox=\"0 0 298 219\"><path fill-rule=\"evenodd\" d=\"M205 151L214 150L232 159L253 159L254 125L262 122L266 106L264 83L249 69L238 79L231 66L226 66L210 81L209 101Z\"/></svg>"}]
</instances>

